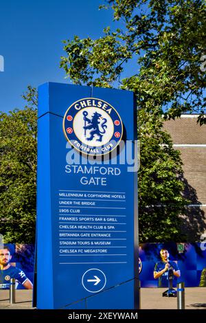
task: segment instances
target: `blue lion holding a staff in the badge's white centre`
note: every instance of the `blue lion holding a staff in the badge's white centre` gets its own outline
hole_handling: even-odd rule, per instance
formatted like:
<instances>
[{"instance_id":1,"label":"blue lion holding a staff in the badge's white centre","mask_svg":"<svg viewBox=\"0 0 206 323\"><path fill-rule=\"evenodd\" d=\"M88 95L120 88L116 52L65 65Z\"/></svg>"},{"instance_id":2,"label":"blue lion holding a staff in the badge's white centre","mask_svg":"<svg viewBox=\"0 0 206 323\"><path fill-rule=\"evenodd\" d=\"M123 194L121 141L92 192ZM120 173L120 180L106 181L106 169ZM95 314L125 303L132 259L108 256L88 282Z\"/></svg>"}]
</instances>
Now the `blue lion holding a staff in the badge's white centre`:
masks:
<instances>
[{"instance_id":1,"label":"blue lion holding a staff in the badge's white centre","mask_svg":"<svg viewBox=\"0 0 206 323\"><path fill-rule=\"evenodd\" d=\"M84 119L84 137L86 137L87 140L91 141L93 140L93 137L97 135L99 138L96 139L97 142L102 142L102 137L104 133L106 133L106 118L102 118L102 115L98 112L93 113L91 116L91 119L87 118L88 112L83 112L83 119ZM101 130L100 131L100 126ZM89 131L89 136L87 137L87 131Z\"/></svg>"}]
</instances>

